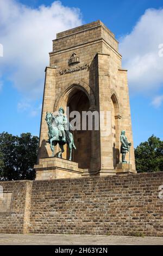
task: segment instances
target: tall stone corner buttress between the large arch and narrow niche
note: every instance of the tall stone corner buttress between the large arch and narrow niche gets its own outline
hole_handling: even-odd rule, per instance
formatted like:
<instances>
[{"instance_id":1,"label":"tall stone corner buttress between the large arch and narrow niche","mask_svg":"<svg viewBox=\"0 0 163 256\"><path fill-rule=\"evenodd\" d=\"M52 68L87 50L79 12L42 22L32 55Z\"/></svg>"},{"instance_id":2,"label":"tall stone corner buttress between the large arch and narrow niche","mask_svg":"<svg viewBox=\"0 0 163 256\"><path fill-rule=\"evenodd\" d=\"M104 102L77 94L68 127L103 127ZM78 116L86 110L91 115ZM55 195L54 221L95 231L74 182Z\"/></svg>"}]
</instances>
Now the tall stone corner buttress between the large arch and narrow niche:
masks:
<instances>
[{"instance_id":1,"label":"tall stone corner buttress between the large arch and narrow niche","mask_svg":"<svg viewBox=\"0 0 163 256\"><path fill-rule=\"evenodd\" d=\"M109 75L109 54L98 53L98 87L101 150L100 175L107 175L109 173L115 173L113 166L111 137L111 93Z\"/></svg>"}]
</instances>

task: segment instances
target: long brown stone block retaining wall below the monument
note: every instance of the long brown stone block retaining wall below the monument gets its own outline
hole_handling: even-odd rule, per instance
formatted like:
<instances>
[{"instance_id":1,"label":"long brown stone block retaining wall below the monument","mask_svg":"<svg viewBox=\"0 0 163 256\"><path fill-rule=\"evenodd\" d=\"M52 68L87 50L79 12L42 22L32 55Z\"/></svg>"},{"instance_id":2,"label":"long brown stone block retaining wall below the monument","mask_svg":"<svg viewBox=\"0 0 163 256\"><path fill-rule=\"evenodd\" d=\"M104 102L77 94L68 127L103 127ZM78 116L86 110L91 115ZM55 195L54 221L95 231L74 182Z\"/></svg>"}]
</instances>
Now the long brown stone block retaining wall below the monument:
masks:
<instances>
[{"instance_id":1,"label":"long brown stone block retaining wall below the monument","mask_svg":"<svg viewBox=\"0 0 163 256\"><path fill-rule=\"evenodd\" d=\"M163 173L0 182L13 193L0 233L163 236Z\"/></svg>"}]
</instances>

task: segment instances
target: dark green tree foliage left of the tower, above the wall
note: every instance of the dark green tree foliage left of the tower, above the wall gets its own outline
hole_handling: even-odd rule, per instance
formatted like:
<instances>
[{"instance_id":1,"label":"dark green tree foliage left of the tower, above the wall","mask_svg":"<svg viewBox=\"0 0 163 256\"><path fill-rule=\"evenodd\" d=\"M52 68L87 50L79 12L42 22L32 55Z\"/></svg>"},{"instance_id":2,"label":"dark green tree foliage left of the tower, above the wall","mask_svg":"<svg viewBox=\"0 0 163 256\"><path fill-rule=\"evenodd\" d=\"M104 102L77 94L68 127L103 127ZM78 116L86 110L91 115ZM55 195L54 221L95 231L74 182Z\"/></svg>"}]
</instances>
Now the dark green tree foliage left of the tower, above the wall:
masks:
<instances>
[{"instance_id":1,"label":"dark green tree foliage left of the tower, above the wall","mask_svg":"<svg viewBox=\"0 0 163 256\"><path fill-rule=\"evenodd\" d=\"M0 133L0 180L33 180L39 138L30 133Z\"/></svg>"}]
</instances>

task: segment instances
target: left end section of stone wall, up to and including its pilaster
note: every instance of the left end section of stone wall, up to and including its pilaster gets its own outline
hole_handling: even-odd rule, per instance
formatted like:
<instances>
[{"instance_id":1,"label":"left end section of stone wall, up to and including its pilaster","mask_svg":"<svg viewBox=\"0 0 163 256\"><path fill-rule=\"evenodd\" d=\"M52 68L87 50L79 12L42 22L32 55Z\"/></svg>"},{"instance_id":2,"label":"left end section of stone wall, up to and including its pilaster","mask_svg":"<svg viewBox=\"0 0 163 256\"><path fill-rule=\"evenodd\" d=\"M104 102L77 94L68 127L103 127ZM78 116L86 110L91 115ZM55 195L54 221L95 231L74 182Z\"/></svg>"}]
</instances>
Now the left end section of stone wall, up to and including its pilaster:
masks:
<instances>
[{"instance_id":1,"label":"left end section of stone wall, up to and including its pilaster","mask_svg":"<svg viewBox=\"0 0 163 256\"><path fill-rule=\"evenodd\" d=\"M5 212L4 208L0 207L0 233L29 233L32 181L0 182L0 186L3 187L4 193L12 192L11 202L8 202L10 210ZM4 199L0 198L2 204L6 203Z\"/></svg>"}]
</instances>

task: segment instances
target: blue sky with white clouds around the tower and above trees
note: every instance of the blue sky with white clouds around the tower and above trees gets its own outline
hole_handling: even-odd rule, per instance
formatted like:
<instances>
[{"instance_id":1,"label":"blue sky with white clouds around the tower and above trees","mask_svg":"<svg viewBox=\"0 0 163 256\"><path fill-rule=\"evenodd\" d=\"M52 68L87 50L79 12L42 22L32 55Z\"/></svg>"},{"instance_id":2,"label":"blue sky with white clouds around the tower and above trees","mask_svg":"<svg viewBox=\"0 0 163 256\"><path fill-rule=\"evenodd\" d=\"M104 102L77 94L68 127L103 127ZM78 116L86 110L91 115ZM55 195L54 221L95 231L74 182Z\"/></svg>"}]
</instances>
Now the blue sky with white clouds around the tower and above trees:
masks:
<instances>
[{"instance_id":1,"label":"blue sky with white clouds around the tower and above trees","mask_svg":"<svg viewBox=\"0 0 163 256\"><path fill-rule=\"evenodd\" d=\"M163 2L159 0L1 0L0 132L39 136L44 69L52 39L57 32L96 20L120 41L122 66L129 70L134 146L153 133L163 139L163 57L158 57Z\"/></svg>"}]
</instances>

